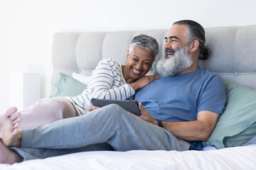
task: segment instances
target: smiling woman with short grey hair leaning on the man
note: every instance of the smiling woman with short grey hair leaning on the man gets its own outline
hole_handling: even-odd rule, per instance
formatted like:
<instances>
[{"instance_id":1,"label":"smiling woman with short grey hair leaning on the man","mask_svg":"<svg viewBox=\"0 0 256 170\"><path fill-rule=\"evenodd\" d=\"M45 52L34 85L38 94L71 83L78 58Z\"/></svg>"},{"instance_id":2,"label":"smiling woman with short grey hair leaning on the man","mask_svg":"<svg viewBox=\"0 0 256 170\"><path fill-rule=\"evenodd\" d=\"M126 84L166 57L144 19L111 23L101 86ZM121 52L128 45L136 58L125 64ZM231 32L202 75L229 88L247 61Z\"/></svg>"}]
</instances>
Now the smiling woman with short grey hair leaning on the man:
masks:
<instances>
[{"instance_id":1,"label":"smiling woman with short grey hair leaning on the man","mask_svg":"<svg viewBox=\"0 0 256 170\"><path fill-rule=\"evenodd\" d=\"M84 115L91 106L91 98L127 99L138 89L159 79L159 76L144 76L151 69L158 52L159 45L154 38L138 35L129 45L126 65L112 58L101 60L82 94L74 97L43 98L12 116L16 119L21 114L20 128L33 128L55 120Z\"/></svg>"}]
</instances>

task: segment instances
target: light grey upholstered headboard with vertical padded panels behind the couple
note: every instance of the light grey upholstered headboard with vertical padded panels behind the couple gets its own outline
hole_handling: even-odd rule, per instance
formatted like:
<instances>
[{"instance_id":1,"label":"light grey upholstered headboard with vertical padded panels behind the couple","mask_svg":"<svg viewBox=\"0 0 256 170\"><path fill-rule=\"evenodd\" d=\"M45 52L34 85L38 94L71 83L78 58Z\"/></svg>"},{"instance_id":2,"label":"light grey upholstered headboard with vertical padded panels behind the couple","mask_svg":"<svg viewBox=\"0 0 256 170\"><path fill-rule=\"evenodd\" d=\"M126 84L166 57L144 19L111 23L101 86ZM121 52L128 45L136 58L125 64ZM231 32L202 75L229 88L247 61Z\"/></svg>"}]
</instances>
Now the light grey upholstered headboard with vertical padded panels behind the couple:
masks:
<instances>
[{"instance_id":1,"label":"light grey upholstered headboard with vertical padded panels behind the couple","mask_svg":"<svg viewBox=\"0 0 256 170\"><path fill-rule=\"evenodd\" d=\"M164 55L164 37L168 30L139 30L95 33L55 33L53 38L53 77L58 72L89 76L97 63L112 57L122 64L129 42L135 35L151 35L159 42ZM210 57L200 61L201 69L217 72L223 79L256 89L256 26L206 28ZM156 60L157 60L156 59Z\"/></svg>"}]
</instances>

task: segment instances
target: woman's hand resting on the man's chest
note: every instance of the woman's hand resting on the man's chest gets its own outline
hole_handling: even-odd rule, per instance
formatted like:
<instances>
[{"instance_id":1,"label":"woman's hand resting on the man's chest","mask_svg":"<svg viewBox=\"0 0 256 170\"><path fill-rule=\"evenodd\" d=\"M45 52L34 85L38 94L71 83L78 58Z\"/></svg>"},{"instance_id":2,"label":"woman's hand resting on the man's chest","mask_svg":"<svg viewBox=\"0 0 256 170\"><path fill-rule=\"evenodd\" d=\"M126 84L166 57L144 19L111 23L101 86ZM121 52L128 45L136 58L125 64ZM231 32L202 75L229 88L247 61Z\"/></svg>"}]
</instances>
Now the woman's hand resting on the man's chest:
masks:
<instances>
[{"instance_id":1,"label":"woman's hand resting on the man's chest","mask_svg":"<svg viewBox=\"0 0 256 170\"><path fill-rule=\"evenodd\" d=\"M150 84L152 81L155 81L156 79L159 79L159 78L160 76L156 76L156 75L144 76L129 85L132 86L134 91L137 91L139 89L144 88L144 86Z\"/></svg>"}]
</instances>

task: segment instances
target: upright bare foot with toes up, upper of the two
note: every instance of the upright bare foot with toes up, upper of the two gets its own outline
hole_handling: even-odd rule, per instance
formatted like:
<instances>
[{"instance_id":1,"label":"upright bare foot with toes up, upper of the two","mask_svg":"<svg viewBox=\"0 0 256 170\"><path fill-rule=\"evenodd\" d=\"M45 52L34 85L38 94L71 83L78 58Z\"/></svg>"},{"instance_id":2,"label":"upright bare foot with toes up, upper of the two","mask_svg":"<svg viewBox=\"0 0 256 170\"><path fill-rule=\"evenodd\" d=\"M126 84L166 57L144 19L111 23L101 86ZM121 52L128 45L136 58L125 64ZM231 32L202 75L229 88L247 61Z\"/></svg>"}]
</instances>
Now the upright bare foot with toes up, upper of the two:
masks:
<instances>
[{"instance_id":1,"label":"upright bare foot with toes up, upper of the two","mask_svg":"<svg viewBox=\"0 0 256 170\"><path fill-rule=\"evenodd\" d=\"M21 124L21 113L16 113L16 108L9 108L4 115L0 117L0 128L2 132L1 141L6 147L18 147L18 128ZM18 135L18 136L17 136Z\"/></svg>"}]
</instances>

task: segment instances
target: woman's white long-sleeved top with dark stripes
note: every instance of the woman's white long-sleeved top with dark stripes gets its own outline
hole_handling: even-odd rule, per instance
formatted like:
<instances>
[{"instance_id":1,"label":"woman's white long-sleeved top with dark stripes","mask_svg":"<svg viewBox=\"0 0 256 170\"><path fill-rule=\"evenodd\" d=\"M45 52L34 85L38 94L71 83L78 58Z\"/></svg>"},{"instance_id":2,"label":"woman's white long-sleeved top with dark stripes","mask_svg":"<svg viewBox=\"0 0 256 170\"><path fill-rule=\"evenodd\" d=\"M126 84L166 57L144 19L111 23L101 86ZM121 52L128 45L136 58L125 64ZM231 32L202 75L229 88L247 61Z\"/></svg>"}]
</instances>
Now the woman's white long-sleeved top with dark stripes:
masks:
<instances>
[{"instance_id":1,"label":"woman's white long-sleeved top with dark stripes","mask_svg":"<svg viewBox=\"0 0 256 170\"><path fill-rule=\"evenodd\" d=\"M82 94L68 99L75 105L79 115L86 113L92 105L91 98L125 100L135 94L122 74L122 64L112 58L101 60L92 71L87 89Z\"/></svg>"}]
</instances>

